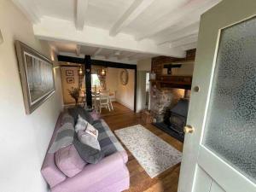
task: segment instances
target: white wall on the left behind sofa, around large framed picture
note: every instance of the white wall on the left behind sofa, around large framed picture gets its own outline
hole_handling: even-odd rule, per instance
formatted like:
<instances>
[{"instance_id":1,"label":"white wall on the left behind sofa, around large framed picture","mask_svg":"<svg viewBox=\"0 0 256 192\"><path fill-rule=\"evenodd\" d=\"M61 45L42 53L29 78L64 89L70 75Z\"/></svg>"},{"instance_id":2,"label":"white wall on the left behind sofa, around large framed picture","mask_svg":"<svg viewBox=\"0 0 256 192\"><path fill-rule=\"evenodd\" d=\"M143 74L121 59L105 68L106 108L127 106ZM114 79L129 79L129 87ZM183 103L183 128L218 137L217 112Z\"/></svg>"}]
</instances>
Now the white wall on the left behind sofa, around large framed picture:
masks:
<instances>
[{"instance_id":1,"label":"white wall on the left behind sofa, around large framed picture","mask_svg":"<svg viewBox=\"0 0 256 192\"><path fill-rule=\"evenodd\" d=\"M32 24L10 0L0 0L0 30L0 191L45 192L47 187L40 169L62 109L60 68L55 68L55 94L26 115L15 39L48 57L49 46L34 38Z\"/></svg>"}]
</instances>

